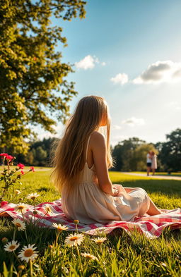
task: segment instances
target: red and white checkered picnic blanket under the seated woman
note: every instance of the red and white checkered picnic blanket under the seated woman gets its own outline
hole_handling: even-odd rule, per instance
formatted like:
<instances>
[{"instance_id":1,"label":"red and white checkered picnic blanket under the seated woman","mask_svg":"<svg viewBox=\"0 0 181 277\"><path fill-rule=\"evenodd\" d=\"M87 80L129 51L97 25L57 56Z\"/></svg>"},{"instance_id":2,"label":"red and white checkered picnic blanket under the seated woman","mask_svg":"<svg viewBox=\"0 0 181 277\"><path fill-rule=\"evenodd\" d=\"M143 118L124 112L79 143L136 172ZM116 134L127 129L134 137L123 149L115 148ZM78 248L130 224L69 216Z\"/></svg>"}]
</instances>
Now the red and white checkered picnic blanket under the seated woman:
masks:
<instances>
[{"instance_id":1,"label":"red and white checkered picnic blanket under the seated woman","mask_svg":"<svg viewBox=\"0 0 181 277\"><path fill-rule=\"evenodd\" d=\"M46 214L45 207L49 205L52 209L51 214ZM16 204L1 202L0 216L11 216L12 218L21 218L22 215L15 211ZM34 206L27 205L27 211L23 214L24 218L37 219L40 227L53 228L52 223L61 223L69 227L69 230L76 230L73 221L66 218L62 211L61 199L54 202L44 202L36 205L37 214L34 216ZM158 238L163 229L170 226L172 229L181 227L181 209L162 210L163 214L157 216L136 217L134 221L111 221L109 223L78 224L78 230L90 235L97 235L99 232L110 233L116 228L122 228L131 235L132 230L139 230L147 238ZM75 218L76 219L76 218Z\"/></svg>"}]
</instances>

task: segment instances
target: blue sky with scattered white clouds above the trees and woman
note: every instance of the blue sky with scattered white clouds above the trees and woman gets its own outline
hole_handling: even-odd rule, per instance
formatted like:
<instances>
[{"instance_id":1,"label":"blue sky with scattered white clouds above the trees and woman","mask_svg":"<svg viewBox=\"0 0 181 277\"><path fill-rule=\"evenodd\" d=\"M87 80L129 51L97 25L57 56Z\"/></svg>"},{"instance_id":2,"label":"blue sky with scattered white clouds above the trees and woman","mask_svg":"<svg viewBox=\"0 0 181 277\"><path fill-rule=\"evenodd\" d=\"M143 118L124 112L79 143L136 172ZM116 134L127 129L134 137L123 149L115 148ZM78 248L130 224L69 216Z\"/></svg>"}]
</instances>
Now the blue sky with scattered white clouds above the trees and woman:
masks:
<instances>
[{"instance_id":1,"label":"blue sky with scattered white clouds above the trees and woman","mask_svg":"<svg viewBox=\"0 0 181 277\"><path fill-rule=\"evenodd\" d=\"M86 18L64 27L62 61L74 64L69 80L78 97L105 97L112 118L111 142L140 137L165 140L181 128L181 1L91 0ZM57 125L57 136L62 124ZM49 133L42 133L49 137Z\"/></svg>"}]
</instances>

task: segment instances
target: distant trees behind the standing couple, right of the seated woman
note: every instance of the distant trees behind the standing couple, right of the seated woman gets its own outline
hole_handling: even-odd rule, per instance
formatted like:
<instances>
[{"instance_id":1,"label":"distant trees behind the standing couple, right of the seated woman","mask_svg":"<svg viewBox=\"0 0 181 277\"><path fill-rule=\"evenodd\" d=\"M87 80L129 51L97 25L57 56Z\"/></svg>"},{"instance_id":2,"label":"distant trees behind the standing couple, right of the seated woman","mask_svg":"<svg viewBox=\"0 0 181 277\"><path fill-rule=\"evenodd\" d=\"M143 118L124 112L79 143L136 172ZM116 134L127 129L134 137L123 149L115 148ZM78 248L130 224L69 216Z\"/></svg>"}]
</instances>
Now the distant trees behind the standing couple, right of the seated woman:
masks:
<instances>
[{"instance_id":1,"label":"distant trees behind the standing couple, right of the seated woman","mask_svg":"<svg viewBox=\"0 0 181 277\"><path fill-rule=\"evenodd\" d=\"M119 142L112 149L115 166L112 171L145 171L146 154L158 155L158 171L181 171L181 129L166 135L166 142L146 143L138 137Z\"/></svg>"}]
</instances>

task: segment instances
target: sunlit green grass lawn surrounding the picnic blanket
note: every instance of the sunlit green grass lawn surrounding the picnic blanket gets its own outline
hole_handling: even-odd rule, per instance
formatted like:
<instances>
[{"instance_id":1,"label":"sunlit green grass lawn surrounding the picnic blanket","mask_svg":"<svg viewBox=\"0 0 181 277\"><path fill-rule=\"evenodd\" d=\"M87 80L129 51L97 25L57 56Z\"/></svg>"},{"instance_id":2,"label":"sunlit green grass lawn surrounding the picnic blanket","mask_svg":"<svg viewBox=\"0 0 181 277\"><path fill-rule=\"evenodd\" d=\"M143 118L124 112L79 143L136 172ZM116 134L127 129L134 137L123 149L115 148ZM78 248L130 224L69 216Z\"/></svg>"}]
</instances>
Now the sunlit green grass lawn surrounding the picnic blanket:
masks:
<instances>
[{"instance_id":1,"label":"sunlit green grass lawn surrounding the picnic blanket","mask_svg":"<svg viewBox=\"0 0 181 277\"><path fill-rule=\"evenodd\" d=\"M48 169L48 168L47 168ZM16 185L16 189L21 190L21 195L13 202L32 204L25 197L30 192L37 192L40 197L39 202L52 202L59 199L59 192L49 183L50 171L31 172L23 176L22 185ZM148 179L140 176L129 176L124 173L110 172L112 183L121 183L124 187L143 187L151 196L158 207L162 209L174 209L181 207L181 182L180 180L160 180ZM11 193L6 198L10 201L13 197ZM13 224L11 219L0 219L0 237L6 236L8 240L13 238ZM102 246L98 246L91 240L90 235L86 235L85 240L78 247L79 252L88 252L98 258L88 261L84 257L78 256L76 247L65 247L64 238L68 232L59 236L58 246L55 247L55 230L47 228L37 228L27 226L28 243L37 246L39 256L33 263L33 276L181 276L181 231L163 231L163 235L156 240L148 240L139 233L133 233L129 237L124 230L115 230L107 235L107 240ZM16 240L23 245L28 245L25 233L16 233ZM53 245L53 247L49 247ZM0 241L0 276L30 276L29 264L25 265L25 270L17 273L18 261L13 253L4 251L4 246ZM18 248L21 250L21 247ZM16 250L18 253L19 251ZM3 267L3 261L6 266Z\"/></svg>"}]
</instances>

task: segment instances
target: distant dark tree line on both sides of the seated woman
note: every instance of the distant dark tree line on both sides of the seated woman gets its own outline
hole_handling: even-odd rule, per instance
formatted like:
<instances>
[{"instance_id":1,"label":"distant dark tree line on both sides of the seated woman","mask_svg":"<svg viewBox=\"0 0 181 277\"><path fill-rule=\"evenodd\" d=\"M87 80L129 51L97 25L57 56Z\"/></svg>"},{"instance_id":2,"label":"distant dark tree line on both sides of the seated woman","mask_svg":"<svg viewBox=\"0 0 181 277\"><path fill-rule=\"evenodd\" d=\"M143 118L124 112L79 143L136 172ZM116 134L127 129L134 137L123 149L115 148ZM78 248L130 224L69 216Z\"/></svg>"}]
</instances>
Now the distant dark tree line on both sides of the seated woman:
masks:
<instances>
[{"instance_id":1,"label":"distant dark tree line on both sides of the seated woman","mask_svg":"<svg viewBox=\"0 0 181 277\"><path fill-rule=\"evenodd\" d=\"M181 171L181 129L166 135L166 142L146 143L138 137L119 142L112 147L115 166L112 171L145 171L146 154L153 150L158 155L158 171ZM28 154L16 155L16 162L26 166L51 166L52 145L55 137L30 142ZM2 150L2 149L0 149ZM10 153L13 154L13 153Z\"/></svg>"}]
</instances>

